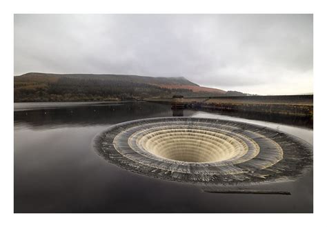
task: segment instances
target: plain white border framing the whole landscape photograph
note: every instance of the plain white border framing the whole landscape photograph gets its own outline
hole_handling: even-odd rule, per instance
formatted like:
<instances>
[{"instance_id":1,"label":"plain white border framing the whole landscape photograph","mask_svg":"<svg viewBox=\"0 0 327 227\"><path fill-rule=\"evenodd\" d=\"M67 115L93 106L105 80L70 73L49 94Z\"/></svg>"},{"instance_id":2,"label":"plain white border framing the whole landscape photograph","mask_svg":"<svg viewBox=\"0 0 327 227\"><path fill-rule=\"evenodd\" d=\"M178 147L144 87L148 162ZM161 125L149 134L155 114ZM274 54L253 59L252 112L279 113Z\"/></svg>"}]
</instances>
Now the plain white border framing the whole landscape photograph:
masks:
<instances>
[{"instance_id":1,"label":"plain white border framing the whole landscape photograph","mask_svg":"<svg viewBox=\"0 0 327 227\"><path fill-rule=\"evenodd\" d=\"M317 2L317 1L316 1ZM324 1L7 1L1 3L2 226L323 226L326 210L326 6ZM13 13L314 13L315 163L313 215L21 215L13 214ZM3 216L3 217L2 217ZM127 217L126 217L127 216Z\"/></svg>"}]
</instances>

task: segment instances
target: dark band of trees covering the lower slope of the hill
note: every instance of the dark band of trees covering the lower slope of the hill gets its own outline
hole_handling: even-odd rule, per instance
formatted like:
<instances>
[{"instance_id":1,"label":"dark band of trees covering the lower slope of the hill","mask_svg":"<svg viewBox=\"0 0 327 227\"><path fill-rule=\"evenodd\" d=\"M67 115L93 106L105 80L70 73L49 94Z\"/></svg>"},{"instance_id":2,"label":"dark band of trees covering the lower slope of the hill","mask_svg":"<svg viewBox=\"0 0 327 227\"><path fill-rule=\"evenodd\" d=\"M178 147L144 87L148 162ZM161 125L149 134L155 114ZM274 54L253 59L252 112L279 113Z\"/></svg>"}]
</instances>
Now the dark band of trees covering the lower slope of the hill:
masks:
<instances>
[{"instance_id":1,"label":"dark band of trees covering the lower slope of the hill","mask_svg":"<svg viewBox=\"0 0 327 227\"><path fill-rule=\"evenodd\" d=\"M61 77L56 81L15 81L14 101L116 101L192 96L188 89L169 89L147 83ZM199 93L197 94L199 95ZM208 95L208 94L202 94Z\"/></svg>"}]
</instances>

